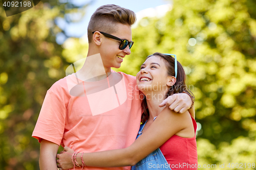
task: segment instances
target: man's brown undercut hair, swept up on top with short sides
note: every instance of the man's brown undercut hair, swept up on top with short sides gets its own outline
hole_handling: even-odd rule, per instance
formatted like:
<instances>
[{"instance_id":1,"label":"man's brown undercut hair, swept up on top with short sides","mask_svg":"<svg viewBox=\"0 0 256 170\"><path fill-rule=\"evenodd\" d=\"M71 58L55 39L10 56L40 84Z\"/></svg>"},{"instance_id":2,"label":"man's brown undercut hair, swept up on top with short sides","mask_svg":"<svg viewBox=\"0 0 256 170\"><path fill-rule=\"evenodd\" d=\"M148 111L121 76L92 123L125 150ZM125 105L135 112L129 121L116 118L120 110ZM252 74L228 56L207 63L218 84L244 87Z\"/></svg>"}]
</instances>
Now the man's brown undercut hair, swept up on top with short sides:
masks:
<instances>
[{"instance_id":1,"label":"man's brown undercut hair, swept up on top with short sides","mask_svg":"<svg viewBox=\"0 0 256 170\"><path fill-rule=\"evenodd\" d=\"M91 16L87 29L88 42L92 41L94 31L111 34L117 31L117 23L132 26L135 21L136 15L133 11L117 5L103 5Z\"/></svg>"}]
</instances>

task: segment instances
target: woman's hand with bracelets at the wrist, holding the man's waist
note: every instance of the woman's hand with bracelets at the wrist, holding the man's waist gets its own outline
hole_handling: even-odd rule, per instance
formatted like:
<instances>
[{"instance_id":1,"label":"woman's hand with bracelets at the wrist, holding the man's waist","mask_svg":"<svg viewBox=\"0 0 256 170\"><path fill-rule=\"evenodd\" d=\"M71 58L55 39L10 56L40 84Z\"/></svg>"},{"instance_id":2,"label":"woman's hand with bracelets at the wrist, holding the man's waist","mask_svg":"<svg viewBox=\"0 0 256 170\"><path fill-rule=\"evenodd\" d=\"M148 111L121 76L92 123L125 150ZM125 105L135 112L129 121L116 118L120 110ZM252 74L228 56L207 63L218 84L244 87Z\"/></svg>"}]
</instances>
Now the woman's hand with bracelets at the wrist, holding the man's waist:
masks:
<instances>
[{"instance_id":1,"label":"woman's hand with bracelets at the wrist, holding the man's waist","mask_svg":"<svg viewBox=\"0 0 256 170\"><path fill-rule=\"evenodd\" d=\"M75 151L70 149L69 147L64 147L64 150L57 154L57 163L58 168L62 169L71 169L74 167L72 163L72 155Z\"/></svg>"}]
</instances>

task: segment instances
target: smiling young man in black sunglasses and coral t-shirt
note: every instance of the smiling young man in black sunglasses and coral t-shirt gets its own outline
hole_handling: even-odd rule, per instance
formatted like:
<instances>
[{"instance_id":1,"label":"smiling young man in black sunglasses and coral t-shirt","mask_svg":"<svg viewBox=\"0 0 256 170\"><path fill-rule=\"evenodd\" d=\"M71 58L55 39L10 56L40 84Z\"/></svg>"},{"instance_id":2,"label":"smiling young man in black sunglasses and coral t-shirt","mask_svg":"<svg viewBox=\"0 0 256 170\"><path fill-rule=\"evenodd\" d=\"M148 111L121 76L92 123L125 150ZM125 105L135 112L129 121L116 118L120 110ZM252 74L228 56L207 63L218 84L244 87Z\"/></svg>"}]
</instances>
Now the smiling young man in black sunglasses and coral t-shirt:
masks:
<instances>
[{"instance_id":1,"label":"smiling young man in black sunglasses and coral t-shirt","mask_svg":"<svg viewBox=\"0 0 256 170\"><path fill-rule=\"evenodd\" d=\"M101 6L92 15L86 62L76 74L53 84L42 104L32 134L40 142L40 169L57 169L59 145L97 152L126 148L135 141L142 114L136 78L111 70L131 54L135 20L133 11L116 5ZM181 93L167 98L165 104L184 112L192 102Z\"/></svg>"}]
</instances>

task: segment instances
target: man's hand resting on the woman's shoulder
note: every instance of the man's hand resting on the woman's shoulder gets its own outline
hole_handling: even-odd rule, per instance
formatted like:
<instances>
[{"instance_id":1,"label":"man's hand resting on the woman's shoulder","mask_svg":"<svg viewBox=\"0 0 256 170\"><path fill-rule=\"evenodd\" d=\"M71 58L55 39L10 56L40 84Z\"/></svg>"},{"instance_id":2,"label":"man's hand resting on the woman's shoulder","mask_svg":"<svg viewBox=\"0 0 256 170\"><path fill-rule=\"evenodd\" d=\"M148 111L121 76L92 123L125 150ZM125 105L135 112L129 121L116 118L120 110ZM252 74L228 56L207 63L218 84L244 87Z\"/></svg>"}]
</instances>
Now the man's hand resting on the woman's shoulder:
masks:
<instances>
[{"instance_id":1,"label":"man's hand resting on the woman's shoulder","mask_svg":"<svg viewBox=\"0 0 256 170\"><path fill-rule=\"evenodd\" d=\"M191 98L186 93L175 93L173 95L168 96L159 107L169 107L170 110L174 110L175 112L184 113L187 111L192 105Z\"/></svg>"}]
</instances>

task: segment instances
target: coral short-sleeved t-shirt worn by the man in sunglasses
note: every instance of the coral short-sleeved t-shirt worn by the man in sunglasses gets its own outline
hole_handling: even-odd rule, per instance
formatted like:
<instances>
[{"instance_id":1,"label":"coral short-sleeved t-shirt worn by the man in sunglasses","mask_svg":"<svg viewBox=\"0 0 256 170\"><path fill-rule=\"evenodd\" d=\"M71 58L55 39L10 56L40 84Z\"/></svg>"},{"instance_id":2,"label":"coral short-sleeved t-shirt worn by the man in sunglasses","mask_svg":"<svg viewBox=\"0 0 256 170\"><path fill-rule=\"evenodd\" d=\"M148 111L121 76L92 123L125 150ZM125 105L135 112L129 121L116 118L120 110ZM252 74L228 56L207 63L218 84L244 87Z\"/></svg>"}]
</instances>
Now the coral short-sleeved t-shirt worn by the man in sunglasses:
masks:
<instances>
[{"instance_id":1,"label":"coral short-sleeved t-shirt worn by the man in sunglasses","mask_svg":"<svg viewBox=\"0 0 256 170\"><path fill-rule=\"evenodd\" d=\"M84 153L126 148L136 139L141 114L134 76L112 71L104 80L84 82L72 74L47 91L32 136Z\"/></svg>"}]
</instances>

